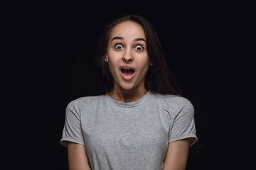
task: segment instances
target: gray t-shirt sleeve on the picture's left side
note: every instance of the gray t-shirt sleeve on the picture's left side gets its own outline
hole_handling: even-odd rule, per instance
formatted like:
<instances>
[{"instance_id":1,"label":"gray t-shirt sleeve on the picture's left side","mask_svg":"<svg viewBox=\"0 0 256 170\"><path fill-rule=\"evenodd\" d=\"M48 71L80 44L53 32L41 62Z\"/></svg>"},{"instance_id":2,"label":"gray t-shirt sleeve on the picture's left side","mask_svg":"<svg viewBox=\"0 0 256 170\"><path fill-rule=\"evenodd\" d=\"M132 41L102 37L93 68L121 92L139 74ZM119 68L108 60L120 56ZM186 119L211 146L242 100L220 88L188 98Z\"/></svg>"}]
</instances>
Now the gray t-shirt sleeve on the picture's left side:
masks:
<instances>
[{"instance_id":1,"label":"gray t-shirt sleeve on the picture's left side","mask_svg":"<svg viewBox=\"0 0 256 170\"><path fill-rule=\"evenodd\" d=\"M75 101L71 101L65 111L65 125L60 143L68 147L68 142L75 142L85 145L82 137L82 128L80 123L80 111L75 105Z\"/></svg>"}]
</instances>

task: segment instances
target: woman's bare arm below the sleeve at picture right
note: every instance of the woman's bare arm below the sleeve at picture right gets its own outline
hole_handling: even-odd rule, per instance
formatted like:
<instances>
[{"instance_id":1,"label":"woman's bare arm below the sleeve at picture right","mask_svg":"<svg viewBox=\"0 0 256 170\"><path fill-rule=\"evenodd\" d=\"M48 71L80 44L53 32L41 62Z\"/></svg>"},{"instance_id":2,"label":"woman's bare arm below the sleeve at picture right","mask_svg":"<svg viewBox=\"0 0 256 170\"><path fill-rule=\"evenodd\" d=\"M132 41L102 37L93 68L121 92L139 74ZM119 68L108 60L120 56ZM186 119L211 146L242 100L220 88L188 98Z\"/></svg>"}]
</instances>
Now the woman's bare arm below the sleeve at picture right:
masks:
<instances>
[{"instance_id":1,"label":"woman's bare arm below the sleeve at picture right","mask_svg":"<svg viewBox=\"0 0 256 170\"><path fill-rule=\"evenodd\" d=\"M190 138L170 142L163 170L185 170L188 160Z\"/></svg>"}]
</instances>

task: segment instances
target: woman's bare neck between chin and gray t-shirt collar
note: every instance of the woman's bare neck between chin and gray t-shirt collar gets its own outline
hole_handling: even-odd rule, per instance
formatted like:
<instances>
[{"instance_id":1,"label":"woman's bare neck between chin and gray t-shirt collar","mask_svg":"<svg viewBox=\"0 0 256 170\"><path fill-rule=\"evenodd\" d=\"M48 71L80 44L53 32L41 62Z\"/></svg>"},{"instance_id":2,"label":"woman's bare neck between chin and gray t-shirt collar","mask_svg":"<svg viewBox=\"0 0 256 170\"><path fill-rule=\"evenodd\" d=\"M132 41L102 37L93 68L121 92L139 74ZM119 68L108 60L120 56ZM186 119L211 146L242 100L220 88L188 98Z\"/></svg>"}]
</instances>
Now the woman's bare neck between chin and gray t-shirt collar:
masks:
<instances>
[{"instance_id":1,"label":"woman's bare neck between chin and gray t-shirt collar","mask_svg":"<svg viewBox=\"0 0 256 170\"><path fill-rule=\"evenodd\" d=\"M114 84L114 88L109 93L109 96L115 101L129 103L132 101L137 101L142 98L147 93L145 86L135 86L133 89L122 89L117 84Z\"/></svg>"}]
</instances>

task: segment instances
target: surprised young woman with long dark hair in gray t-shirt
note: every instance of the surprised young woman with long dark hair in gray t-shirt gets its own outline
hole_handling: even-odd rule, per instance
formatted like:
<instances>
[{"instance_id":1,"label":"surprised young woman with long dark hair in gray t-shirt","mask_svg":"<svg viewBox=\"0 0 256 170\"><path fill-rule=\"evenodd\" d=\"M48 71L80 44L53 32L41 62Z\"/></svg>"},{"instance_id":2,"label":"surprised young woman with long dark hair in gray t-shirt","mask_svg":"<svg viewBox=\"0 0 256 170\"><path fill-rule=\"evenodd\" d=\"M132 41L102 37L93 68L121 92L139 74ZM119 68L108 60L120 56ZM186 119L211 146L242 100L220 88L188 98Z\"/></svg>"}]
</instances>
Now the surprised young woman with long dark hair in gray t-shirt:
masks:
<instances>
[{"instance_id":1,"label":"surprised young woman with long dark hair in gray t-shirt","mask_svg":"<svg viewBox=\"0 0 256 170\"><path fill-rule=\"evenodd\" d=\"M185 169L197 140L194 110L174 89L154 28L124 16L106 27L100 48L105 94L66 109L70 170Z\"/></svg>"}]
</instances>

